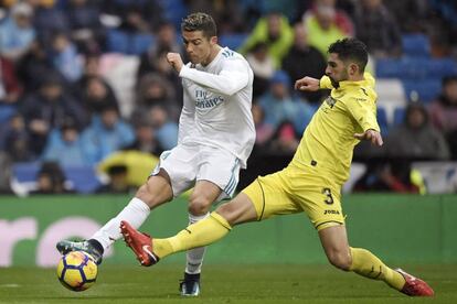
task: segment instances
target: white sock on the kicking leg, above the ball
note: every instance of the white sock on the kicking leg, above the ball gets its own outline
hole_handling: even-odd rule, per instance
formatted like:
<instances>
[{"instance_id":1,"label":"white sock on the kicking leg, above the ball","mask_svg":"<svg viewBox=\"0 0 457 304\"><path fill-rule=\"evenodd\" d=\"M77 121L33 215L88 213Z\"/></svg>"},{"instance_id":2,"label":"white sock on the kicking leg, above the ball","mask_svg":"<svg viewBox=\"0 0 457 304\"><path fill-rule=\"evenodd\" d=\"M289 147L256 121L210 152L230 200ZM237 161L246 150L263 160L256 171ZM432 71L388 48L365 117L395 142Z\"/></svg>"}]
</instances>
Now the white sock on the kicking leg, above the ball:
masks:
<instances>
[{"instance_id":1,"label":"white sock on the kicking leg, above the ball","mask_svg":"<svg viewBox=\"0 0 457 304\"><path fill-rule=\"evenodd\" d=\"M106 250L121 238L120 221L127 220L136 229L145 222L150 213L149 206L141 199L134 197L130 203L113 219L105 224L92 239L96 239Z\"/></svg>"}]
</instances>

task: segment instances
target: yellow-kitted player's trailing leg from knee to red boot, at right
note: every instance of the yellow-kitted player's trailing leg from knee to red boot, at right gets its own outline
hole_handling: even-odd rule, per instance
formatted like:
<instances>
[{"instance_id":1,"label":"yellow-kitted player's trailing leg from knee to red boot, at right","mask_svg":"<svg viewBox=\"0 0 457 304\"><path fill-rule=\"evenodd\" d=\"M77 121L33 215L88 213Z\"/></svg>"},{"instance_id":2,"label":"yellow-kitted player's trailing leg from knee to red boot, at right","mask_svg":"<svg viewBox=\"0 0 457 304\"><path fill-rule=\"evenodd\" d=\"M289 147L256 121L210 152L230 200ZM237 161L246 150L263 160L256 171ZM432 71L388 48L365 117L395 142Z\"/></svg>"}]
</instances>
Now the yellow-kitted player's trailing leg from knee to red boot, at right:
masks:
<instances>
[{"instance_id":1,"label":"yellow-kitted player's trailing leg from knee to red boot, at right","mask_svg":"<svg viewBox=\"0 0 457 304\"><path fill-rule=\"evenodd\" d=\"M349 247L343 225L321 229L319 238L329 262L341 270L353 271L369 279L384 281L391 287L407 295L432 296L434 294L424 281L402 270L386 267L378 257L365 249Z\"/></svg>"}]
</instances>

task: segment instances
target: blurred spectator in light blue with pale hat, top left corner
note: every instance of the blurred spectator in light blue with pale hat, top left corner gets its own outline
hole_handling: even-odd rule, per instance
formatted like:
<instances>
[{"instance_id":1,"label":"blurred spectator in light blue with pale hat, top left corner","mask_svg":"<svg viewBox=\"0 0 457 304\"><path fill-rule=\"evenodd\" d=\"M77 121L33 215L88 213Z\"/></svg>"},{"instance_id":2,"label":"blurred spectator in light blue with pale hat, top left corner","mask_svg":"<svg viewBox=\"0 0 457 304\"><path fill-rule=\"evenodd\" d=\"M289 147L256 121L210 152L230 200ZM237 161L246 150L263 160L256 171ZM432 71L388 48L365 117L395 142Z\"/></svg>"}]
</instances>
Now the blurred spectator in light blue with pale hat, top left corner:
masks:
<instances>
[{"instance_id":1,"label":"blurred spectator in light blue with pale hat, top left corner","mask_svg":"<svg viewBox=\"0 0 457 304\"><path fill-rule=\"evenodd\" d=\"M19 2L0 23L0 55L13 62L20 59L35 37L32 26L33 8Z\"/></svg>"}]
</instances>

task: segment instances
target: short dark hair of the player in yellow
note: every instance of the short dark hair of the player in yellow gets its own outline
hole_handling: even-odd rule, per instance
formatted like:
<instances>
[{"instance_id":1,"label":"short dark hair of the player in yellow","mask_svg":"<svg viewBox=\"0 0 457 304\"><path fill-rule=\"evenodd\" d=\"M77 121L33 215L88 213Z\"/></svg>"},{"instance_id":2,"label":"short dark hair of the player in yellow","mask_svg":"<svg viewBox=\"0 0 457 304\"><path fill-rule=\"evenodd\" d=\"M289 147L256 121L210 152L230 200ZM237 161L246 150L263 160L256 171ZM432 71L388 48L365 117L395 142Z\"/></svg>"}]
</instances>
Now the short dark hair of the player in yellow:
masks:
<instances>
[{"instance_id":1,"label":"short dark hair of the player in yellow","mask_svg":"<svg viewBox=\"0 0 457 304\"><path fill-rule=\"evenodd\" d=\"M346 37L337 40L329 46L329 54L336 53L338 57L346 61L353 61L359 65L360 72L365 70L368 63L366 45L358 39Z\"/></svg>"}]
</instances>

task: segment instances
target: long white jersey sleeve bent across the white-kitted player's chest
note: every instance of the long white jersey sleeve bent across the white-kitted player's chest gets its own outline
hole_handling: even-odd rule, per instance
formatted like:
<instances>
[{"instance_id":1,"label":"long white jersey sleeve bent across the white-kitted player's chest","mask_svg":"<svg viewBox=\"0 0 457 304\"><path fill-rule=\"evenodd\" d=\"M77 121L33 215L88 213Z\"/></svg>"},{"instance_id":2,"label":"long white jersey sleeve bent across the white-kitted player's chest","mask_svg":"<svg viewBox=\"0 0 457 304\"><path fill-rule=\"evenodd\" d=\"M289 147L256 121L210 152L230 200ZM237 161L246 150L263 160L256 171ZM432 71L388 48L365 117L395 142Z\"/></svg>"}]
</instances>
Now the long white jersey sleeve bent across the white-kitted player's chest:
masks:
<instances>
[{"instance_id":1,"label":"long white jersey sleeve bent across the white-kitted player's chest","mask_svg":"<svg viewBox=\"0 0 457 304\"><path fill-rule=\"evenodd\" d=\"M179 73L179 76L182 78L188 78L201 86L227 96L232 96L247 86L249 82L248 75L247 63L237 58L226 59L222 70L217 75L198 70L189 66L183 66Z\"/></svg>"}]
</instances>

